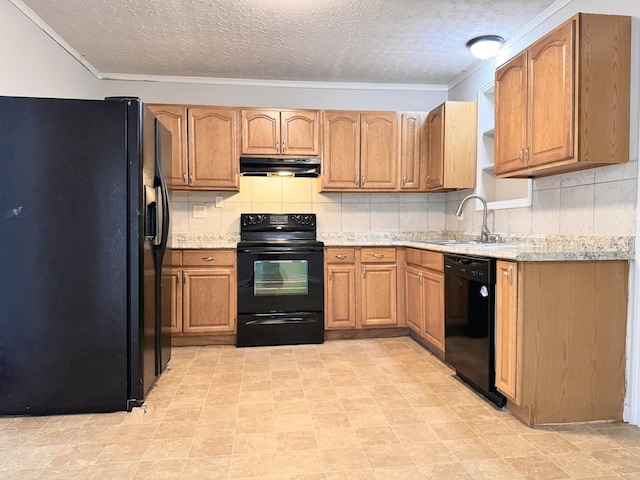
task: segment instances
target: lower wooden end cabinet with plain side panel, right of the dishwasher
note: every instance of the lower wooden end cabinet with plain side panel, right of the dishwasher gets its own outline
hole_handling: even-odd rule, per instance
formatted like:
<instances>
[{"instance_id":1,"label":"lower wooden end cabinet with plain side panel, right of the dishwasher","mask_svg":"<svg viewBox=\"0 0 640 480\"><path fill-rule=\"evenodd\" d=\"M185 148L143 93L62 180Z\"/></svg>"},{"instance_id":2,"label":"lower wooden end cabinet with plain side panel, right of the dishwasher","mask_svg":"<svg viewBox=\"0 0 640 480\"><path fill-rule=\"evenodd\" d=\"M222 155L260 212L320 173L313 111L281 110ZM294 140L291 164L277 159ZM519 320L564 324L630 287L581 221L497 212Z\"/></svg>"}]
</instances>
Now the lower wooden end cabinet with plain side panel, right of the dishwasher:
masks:
<instances>
[{"instance_id":1,"label":"lower wooden end cabinet with plain side panel, right of the dishwasher","mask_svg":"<svg viewBox=\"0 0 640 480\"><path fill-rule=\"evenodd\" d=\"M496 387L528 425L621 420L626 261L497 262Z\"/></svg>"}]
</instances>

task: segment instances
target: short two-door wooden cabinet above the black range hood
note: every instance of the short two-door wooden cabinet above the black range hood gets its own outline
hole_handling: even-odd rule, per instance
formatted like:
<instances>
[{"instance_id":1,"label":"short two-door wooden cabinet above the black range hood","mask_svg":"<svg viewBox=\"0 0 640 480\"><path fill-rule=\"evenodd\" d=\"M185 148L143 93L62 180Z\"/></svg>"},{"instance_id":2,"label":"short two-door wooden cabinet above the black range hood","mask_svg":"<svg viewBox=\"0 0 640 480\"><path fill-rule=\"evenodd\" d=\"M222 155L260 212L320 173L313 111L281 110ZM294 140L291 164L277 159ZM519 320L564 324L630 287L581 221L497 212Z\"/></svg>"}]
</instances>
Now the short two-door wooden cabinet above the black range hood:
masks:
<instances>
[{"instance_id":1,"label":"short two-door wooden cabinet above the black range hood","mask_svg":"<svg viewBox=\"0 0 640 480\"><path fill-rule=\"evenodd\" d=\"M243 155L320 155L318 110L242 110Z\"/></svg>"}]
</instances>

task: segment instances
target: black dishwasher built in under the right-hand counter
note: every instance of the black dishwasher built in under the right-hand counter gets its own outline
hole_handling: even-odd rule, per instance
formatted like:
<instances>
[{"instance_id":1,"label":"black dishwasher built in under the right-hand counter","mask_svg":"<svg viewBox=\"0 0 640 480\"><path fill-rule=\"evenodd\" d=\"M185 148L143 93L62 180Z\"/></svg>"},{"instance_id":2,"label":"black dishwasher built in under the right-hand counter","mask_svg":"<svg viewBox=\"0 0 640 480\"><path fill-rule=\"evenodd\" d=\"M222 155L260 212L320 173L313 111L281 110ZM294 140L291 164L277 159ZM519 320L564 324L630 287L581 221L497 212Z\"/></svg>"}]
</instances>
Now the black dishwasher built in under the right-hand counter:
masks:
<instances>
[{"instance_id":1,"label":"black dishwasher built in under the right-hand counter","mask_svg":"<svg viewBox=\"0 0 640 480\"><path fill-rule=\"evenodd\" d=\"M456 375L502 407L495 387L495 259L445 255L445 361Z\"/></svg>"}]
</instances>

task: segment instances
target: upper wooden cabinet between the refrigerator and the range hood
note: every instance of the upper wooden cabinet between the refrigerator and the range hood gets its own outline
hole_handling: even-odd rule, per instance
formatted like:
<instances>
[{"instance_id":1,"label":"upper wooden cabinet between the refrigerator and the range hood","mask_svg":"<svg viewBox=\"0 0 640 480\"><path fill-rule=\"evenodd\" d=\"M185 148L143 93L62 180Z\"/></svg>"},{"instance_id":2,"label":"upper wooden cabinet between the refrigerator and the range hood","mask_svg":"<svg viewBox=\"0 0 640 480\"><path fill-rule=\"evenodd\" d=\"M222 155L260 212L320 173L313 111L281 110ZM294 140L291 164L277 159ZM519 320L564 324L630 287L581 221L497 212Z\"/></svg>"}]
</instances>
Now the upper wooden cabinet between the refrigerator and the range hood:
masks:
<instances>
[{"instance_id":1,"label":"upper wooden cabinet between the refrigerator and the range hood","mask_svg":"<svg viewBox=\"0 0 640 480\"><path fill-rule=\"evenodd\" d=\"M175 190L238 190L238 109L147 106L171 132Z\"/></svg>"}]
</instances>

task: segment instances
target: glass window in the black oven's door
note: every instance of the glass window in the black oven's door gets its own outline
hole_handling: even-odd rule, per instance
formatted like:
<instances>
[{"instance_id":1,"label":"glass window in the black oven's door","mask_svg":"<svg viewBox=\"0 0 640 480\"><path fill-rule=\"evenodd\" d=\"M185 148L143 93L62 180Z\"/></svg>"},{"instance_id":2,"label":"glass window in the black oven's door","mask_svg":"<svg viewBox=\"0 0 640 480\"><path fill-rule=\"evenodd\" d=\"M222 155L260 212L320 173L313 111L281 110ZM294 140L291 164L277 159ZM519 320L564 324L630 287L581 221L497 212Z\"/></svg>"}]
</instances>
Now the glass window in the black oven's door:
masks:
<instances>
[{"instance_id":1,"label":"glass window in the black oven's door","mask_svg":"<svg viewBox=\"0 0 640 480\"><path fill-rule=\"evenodd\" d=\"M259 260L253 263L255 296L307 295L309 293L306 260Z\"/></svg>"}]
</instances>

